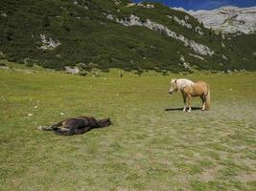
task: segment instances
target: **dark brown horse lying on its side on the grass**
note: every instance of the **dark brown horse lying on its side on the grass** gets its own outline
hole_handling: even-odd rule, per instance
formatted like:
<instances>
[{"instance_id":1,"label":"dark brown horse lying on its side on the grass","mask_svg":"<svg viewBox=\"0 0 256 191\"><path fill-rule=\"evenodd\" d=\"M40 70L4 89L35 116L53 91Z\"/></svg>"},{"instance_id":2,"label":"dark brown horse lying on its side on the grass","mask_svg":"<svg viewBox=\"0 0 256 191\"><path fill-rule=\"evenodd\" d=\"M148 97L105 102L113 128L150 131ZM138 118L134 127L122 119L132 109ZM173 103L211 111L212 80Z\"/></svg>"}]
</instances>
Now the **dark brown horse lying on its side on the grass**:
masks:
<instances>
[{"instance_id":1,"label":"dark brown horse lying on its side on the grass","mask_svg":"<svg viewBox=\"0 0 256 191\"><path fill-rule=\"evenodd\" d=\"M53 131L59 136L73 136L84 134L95 128L103 128L111 125L110 118L97 120L94 117L67 118L49 127L39 127L40 130Z\"/></svg>"}]
</instances>

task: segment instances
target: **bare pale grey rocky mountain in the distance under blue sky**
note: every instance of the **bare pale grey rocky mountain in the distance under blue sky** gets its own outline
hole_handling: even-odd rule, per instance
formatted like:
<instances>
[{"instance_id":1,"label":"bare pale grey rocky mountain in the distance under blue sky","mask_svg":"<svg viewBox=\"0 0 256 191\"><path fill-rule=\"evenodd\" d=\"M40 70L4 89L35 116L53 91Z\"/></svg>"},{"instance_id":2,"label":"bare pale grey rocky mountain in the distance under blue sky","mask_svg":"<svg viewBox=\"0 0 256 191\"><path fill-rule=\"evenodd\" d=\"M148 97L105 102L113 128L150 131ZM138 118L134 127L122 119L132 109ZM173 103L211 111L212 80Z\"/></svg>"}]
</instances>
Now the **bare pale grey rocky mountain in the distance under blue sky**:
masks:
<instances>
[{"instance_id":1,"label":"bare pale grey rocky mountain in the distance under blue sky","mask_svg":"<svg viewBox=\"0 0 256 191\"><path fill-rule=\"evenodd\" d=\"M203 25L219 32L249 34L256 32L256 7L221 7L213 11L187 11Z\"/></svg>"}]
</instances>

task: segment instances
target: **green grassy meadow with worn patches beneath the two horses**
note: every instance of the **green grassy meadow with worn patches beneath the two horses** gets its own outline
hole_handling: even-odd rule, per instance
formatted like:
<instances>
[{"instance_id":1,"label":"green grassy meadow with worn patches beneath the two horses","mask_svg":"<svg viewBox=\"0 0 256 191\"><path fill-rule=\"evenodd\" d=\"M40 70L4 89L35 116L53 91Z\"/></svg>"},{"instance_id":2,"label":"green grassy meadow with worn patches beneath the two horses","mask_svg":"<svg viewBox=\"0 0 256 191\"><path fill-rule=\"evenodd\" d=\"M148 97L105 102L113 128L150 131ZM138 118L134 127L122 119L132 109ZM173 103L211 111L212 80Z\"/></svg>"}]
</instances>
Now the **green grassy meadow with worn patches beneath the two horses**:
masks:
<instances>
[{"instance_id":1,"label":"green grassy meadow with worn patches beneath the two horses","mask_svg":"<svg viewBox=\"0 0 256 191\"><path fill-rule=\"evenodd\" d=\"M165 111L183 106L168 95L175 76L207 81L212 110ZM0 69L0 190L255 190L255 80ZM113 125L74 137L36 128L80 115Z\"/></svg>"}]
</instances>

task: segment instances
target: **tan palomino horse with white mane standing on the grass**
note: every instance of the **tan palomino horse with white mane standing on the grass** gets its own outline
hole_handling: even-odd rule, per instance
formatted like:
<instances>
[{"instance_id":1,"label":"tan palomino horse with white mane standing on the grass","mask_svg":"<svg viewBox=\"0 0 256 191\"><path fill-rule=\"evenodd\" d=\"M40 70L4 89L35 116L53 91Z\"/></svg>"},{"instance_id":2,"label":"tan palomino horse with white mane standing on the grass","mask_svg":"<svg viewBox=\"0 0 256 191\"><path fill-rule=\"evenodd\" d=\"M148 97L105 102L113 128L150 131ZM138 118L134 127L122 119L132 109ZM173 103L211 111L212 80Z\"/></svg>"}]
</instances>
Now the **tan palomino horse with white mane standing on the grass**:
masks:
<instances>
[{"instance_id":1,"label":"tan palomino horse with white mane standing on the grass","mask_svg":"<svg viewBox=\"0 0 256 191\"><path fill-rule=\"evenodd\" d=\"M201 110L210 109L210 86L203 81L193 82L189 79L172 79L170 82L169 94L180 91L184 100L184 109L186 111L186 103L188 100L188 112L191 112L191 98L192 96L200 96L202 101Z\"/></svg>"}]
</instances>

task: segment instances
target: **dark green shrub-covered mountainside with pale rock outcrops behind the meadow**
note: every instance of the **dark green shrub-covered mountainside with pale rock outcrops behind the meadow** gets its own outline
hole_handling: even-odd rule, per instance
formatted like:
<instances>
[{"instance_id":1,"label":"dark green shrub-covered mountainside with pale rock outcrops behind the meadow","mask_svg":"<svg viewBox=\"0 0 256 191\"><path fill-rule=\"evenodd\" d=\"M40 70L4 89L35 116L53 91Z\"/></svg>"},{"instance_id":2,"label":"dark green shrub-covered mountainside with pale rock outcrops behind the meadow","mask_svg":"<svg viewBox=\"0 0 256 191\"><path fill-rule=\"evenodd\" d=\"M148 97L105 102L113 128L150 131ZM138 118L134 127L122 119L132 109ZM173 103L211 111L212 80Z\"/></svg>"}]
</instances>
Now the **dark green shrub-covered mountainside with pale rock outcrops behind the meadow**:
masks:
<instances>
[{"instance_id":1,"label":"dark green shrub-covered mountainside with pale rock outcrops behind the meadow","mask_svg":"<svg viewBox=\"0 0 256 191\"><path fill-rule=\"evenodd\" d=\"M217 34L184 11L129 0L2 0L0 58L85 70L255 70L255 33Z\"/></svg>"}]
</instances>

